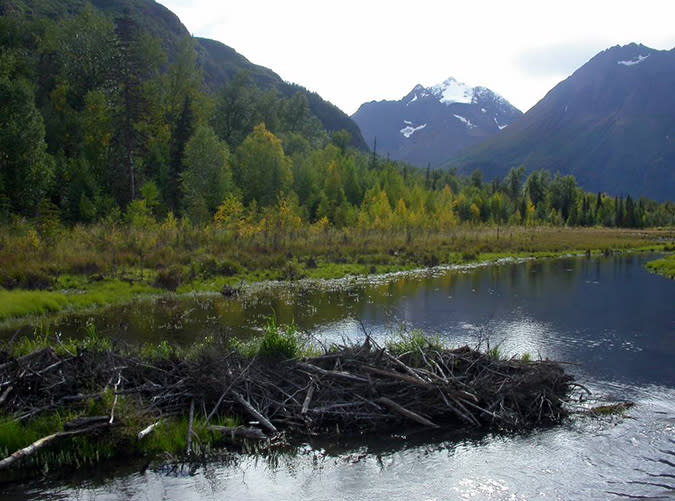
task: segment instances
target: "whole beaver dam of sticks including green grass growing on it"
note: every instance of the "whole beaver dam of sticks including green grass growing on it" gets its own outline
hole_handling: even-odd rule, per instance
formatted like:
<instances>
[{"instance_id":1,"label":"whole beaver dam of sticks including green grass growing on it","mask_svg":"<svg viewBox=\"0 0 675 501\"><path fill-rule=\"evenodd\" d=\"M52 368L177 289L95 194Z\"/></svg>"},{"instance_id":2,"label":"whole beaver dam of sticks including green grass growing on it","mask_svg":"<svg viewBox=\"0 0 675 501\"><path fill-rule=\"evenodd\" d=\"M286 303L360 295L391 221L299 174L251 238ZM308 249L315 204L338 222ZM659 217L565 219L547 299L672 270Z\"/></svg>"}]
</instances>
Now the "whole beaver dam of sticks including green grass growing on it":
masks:
<instances>
[{"instance_id":1,"label":"whole beaver dam of sticks including green grass growing on it","mask_svg":"<svg viewBox=\"0 0 675 501\"><path fill-rule=\"evenodd\" d=\"M0 358L3 470L197 455L280 436L521 430L559 422L575 386L555 362L447 349L421 335L305 357L280 329L255 349L132 350L90 337L19 352Z\"/></svg>"}]
</instances>

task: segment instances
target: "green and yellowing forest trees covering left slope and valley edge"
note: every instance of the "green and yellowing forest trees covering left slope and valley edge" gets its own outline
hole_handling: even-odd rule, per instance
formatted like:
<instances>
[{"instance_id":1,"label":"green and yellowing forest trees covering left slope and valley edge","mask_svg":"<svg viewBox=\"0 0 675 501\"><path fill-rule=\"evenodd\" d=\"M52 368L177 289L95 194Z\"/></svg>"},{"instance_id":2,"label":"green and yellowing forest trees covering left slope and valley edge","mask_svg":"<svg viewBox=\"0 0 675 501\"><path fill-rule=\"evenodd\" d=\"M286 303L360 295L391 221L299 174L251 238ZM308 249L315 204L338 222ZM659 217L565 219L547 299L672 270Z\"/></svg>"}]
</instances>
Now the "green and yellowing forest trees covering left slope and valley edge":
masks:
<instances>
[{"instance_id":1,"label":"green and yellowing forest trees covering left slope and valley edge","mask_svg":"<svg viewBox=\"0 0 675 501\"><path fill-rule=\"evenodd\" d=\"M417 169L328 132L302 93L240 73L207 90L190 37L170 54L128 13L0 18L0 217L142 224L175 216L376 230L461 223L643 227L675 206L585 193L526 166L484 181Z\"/></svg>"}]
</instances>

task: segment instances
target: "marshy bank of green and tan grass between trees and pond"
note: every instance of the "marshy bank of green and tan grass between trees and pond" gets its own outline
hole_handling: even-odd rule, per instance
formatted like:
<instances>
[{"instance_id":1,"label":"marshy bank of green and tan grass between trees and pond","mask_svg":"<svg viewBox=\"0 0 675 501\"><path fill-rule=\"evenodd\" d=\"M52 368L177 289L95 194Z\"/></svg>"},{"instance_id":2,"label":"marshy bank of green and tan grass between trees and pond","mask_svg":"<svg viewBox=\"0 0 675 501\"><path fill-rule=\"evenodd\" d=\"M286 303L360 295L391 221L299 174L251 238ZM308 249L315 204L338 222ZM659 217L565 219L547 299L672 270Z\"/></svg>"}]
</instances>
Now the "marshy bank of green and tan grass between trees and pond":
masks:
<instances>
[{"instance_id":1,"label":"marshy bank of green and tan grass between trees and pond","mask_svg":"<svg viewBox=\"0 0 675 501\"><path fill-rule=\"evenodd\" d=\"M326 229L275 247L256 239L232 241L208 228L173 233L160 228L133 238L108 237L107 230L118 231L78 227L51 241L30 231L5 235L0 321L95 309L167 291L236 293L242 283L267 280L380 275L506 257L663 251L675 241L673 230L459 226L449 233L386 235Z\"/></svg>"}]
</instances>

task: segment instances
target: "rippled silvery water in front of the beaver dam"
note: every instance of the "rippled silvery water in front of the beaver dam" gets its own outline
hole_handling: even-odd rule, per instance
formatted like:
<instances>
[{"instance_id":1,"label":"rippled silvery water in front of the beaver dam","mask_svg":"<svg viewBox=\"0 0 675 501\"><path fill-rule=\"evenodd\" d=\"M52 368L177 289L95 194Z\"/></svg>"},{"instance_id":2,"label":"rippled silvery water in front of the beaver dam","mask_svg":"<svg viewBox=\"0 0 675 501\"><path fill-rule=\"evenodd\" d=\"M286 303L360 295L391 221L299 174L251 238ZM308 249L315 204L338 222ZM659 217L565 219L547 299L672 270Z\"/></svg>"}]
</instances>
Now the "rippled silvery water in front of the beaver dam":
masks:
<instances>
[{"instance_id":1,"label":"rippled silvery water in front of the beaver dam","mask_svg":"<svg viewBox=\"0 0 675 501\"><path fill-rule=\"evenodd\" d=\"M605 386L606 385L606 386ZM633 398L631 418L578 417L528 434L316 442L273 457L232 454L70 484L40 499L606 499L675 489L675 390L595 383ZM662 460L666 460L665 462ZM14 494L20 487L14 488ZM0 490L12 499L12 488ZM25 491L23 494L26 494ZM17 497L18 498L18 497Z\"/></svg>"}]
</instances>

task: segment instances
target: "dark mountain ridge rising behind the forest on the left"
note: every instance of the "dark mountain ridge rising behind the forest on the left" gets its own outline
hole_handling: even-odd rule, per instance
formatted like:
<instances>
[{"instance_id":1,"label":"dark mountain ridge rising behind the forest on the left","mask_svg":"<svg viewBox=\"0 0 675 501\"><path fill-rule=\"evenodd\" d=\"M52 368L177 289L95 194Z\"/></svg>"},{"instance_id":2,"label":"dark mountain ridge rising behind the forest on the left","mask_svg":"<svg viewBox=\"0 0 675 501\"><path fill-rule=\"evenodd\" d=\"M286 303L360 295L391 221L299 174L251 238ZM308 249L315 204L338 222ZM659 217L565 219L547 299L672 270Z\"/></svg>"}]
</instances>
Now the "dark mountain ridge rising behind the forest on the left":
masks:
<instances>
[{"instance_id":1,"label":"dark mountain ridge rising behind the forest on the left","mask_svg":"<svg viewBox=\"0 0 675 501\"><path fill-rule=\"evenodd\" d=\"M34 18L60 19L79 13L86 3L87 0L0 0L0 15L19 12ZM173 12L154 0L88 0L88 3L112 17L119 17L128 9L146 33L160 40L170 61L180 40L190 34ZM204 83L211 91L217 91L235 74L246 72L260 89L275 89L284 97L301 92L307 97L310 112L319 119L324 129L329 132L344 129L351 134L353 146L368 149L358 126L349 116L318 94L285 82L271 69L251 63L221 42L206 38L195 38L195 42Z\"/></svg>"}]
</instances>

